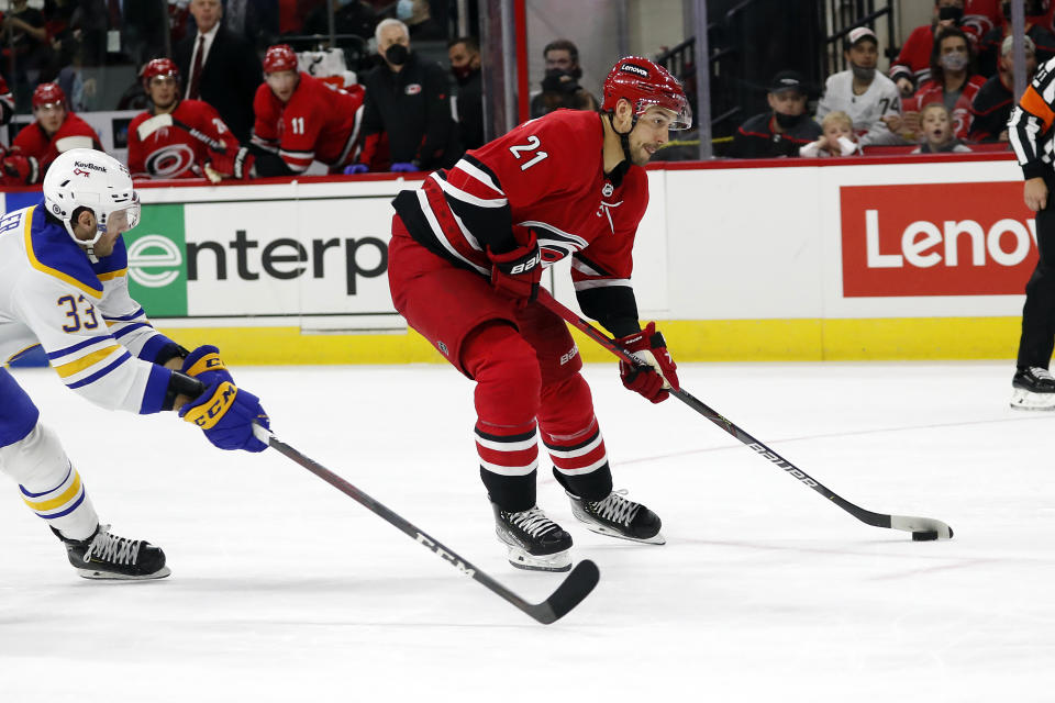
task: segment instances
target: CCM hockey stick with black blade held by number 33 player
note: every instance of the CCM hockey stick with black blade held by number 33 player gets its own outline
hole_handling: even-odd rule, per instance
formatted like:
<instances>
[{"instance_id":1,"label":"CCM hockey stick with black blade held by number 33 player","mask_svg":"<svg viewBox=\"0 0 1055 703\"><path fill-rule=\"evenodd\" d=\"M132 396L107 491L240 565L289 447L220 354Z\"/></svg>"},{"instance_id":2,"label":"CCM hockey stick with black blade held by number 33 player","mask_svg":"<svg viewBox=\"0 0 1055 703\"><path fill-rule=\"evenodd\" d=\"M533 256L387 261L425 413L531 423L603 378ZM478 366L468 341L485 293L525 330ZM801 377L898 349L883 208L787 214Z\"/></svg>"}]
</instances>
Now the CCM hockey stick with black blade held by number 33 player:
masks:
<instances>
[{"instance_id":1,"label":"CCM hockey stick with black blade held by number 33 player","mask_svg":"<svg viewBox=\"0 0 1055 703\"><path fill-rule=\"evenodd\" d=\"M542 603L529 603L469 563L468 560L459 557L440 540L418 529L418 527L403 520L399 514L377 502L321 464L306 457L285 442L279 440L270 431L259 425L253 425L253 432L260 442L267 443L269 447L276 449L279 454L304 467L342 493L353 498L370 512L380 515L388 521L389 524L395 525L406 533L411 539L423 545L429 551L438 555L441 559L456 568L463 576L471 577L479 583L482 583L490 589L491 592L506 599L543 625L554 623L567 615L573 607L581 603L582 599L590 594L590 591L597 585L598 579L600 579L600 571L597 565L589 559L584 559L571 569L571 572L549 598Z\"/></svg>"}]
</instances>

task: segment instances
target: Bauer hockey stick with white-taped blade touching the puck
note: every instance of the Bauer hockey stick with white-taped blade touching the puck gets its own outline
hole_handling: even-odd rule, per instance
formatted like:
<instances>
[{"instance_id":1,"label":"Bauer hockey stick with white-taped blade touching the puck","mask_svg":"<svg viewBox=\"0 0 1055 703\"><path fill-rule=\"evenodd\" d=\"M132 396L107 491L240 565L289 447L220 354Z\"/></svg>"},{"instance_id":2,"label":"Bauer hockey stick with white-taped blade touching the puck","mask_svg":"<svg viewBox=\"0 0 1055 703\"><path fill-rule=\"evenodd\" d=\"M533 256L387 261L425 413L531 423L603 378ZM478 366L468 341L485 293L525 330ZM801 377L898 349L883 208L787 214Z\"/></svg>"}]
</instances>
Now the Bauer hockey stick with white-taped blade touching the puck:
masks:
<instances>
[{"instance_id":1,"label":"Bauer hockey stick with white-taped blade touching the puck","mask_svg":"<svg viewBox=\"0 0 1055 703\"><path fill-rule=\"evenodd\" d=\"M538 290L538 302L547 310L556 313L573 326L581 331L584 334L586 334L586 336L599 343L623 361L634 366L641 366L641 361L619 346L614 339L610 338L603 332L599 331L597 327L577 315L571 310L568 310L566 306L562 305L553 295L549 294L547 290ZM778 468L784 469L786 472L797 478L800 483L812 488L814 491L829 499L860 522L867 523L875 527L887 527L891 529L903 529L904 532L910 532L912 533L912 539L915 542L952 539L953 528L940 520L933 520L931 517L911 517L908 515L887 515L885 513L874 513L870 510L865 510L864 507L854 505L831 489L822 486L820 481L810 477L806 471L781 457L765 444L752 437L749 434L736 426L736 424L734 424L731 420L728 420L718 412L708 408L702 401L697 400L687 391L676 391L670 389L670 394L713 422L729 434L740 439L742 443L747 445L748 448L762 455L763 458L768 459Z\"/></svg>"}]
</instances>

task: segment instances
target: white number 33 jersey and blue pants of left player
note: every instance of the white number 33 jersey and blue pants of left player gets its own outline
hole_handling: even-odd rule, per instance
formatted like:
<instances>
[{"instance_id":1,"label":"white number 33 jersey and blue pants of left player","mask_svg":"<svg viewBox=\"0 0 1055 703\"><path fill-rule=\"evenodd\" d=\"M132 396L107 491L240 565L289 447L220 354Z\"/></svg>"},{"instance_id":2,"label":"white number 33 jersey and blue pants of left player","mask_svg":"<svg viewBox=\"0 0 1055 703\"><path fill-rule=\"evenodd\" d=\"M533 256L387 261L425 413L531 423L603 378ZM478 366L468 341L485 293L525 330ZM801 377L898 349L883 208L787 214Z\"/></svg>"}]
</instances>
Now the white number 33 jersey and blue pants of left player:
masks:
<instances>
[{"instance_id":1,"label":"white number 33 jersey and blue pants of left player","mask_svg":"<svg viewBox=\"0 0 1055 703\"><path fill-rule=\"evenodd\" d=\"M63 382L97 405L160 411L171 371L153 361L173 342L132 299L126 274L121 238L91 263L45 217L43 200L0 217L0 364L40 345ZM24 437L36 414L0 368L0 447Z\"/></svg>"}]
</instances>

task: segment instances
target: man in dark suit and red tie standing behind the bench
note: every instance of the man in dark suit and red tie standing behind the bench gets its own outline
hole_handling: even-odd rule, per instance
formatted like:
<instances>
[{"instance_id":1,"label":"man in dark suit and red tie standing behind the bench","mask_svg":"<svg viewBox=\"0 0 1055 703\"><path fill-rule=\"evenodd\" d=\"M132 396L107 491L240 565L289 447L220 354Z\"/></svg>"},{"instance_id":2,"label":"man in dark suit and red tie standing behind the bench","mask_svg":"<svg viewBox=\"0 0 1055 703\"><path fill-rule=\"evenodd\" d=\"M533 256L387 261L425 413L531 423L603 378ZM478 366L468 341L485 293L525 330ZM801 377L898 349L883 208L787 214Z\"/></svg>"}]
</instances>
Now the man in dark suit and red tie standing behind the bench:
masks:
<instances>
[{"instance_id":1,"label":"man in dark suit and red tie standing behind the bench","mask_svg":"<svg viewBox=\"0 0 1055 703\"><path fill-rule=\"evenodd\" d=\"M220 25L220 0L190 0L190 13L198 31L173 51L180 75L187 76L184 97L211 104L238 142L247 142L260 62L248 42Z\"/></svg>"}]
</instances>

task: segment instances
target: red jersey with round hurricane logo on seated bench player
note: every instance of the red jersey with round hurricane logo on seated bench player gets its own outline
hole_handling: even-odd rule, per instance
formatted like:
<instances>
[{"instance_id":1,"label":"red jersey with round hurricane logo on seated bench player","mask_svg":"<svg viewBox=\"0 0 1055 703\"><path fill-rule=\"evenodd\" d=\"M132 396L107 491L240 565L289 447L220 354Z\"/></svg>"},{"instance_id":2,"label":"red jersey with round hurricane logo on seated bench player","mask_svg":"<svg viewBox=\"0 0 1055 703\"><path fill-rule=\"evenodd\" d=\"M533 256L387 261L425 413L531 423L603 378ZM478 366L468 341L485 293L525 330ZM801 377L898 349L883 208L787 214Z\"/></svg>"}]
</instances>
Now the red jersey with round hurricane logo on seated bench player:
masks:
<instances>
[{"instance_id":1,"label":"red jersey with round hurricane logo on seated bench player","mask_svg":"<svg viewBox=\"0 0 1055 703\"><path fill-rule=\"evenodd\" d=\"M199 178L210 150L238 150L238 141L215 108L201 100L180 100L171 113L151 111L129 125L129 170L133 178Z\"/></svg>"}]
</instances>

